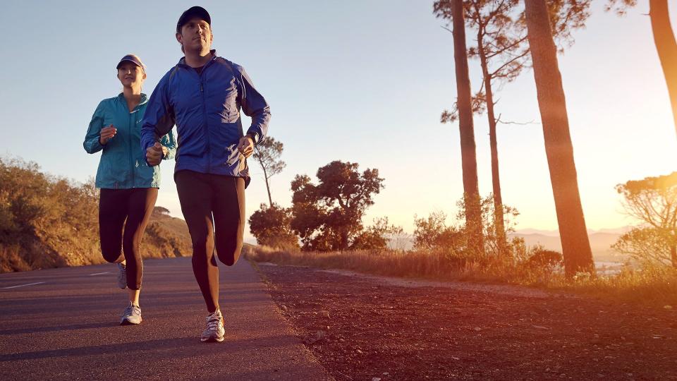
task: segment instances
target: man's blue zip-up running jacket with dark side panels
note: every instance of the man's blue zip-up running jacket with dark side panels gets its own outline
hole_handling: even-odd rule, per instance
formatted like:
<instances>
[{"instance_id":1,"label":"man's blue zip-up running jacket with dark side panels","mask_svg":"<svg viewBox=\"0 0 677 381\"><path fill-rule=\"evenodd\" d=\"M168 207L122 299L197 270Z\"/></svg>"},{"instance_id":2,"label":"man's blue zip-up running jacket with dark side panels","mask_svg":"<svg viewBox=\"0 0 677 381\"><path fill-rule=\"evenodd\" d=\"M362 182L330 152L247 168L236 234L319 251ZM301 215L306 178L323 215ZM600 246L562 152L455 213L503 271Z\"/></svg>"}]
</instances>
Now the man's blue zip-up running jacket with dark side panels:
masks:
<instances>
[{"instance_id":1,"label":"man's blue zip-up running jacket with dark side panels","mask_svg":"<svg viewBox=\"0 0 677 381\"><path fill-rule=\"evenodd\" d=\"M244 135L240 109L252 118L247 133L260 143L268 131L270 107L242 66L214 50L212 56L199 74L184 57L162 77L143 119L142 153L176 124L175 172L237 176L248 184L247 161L237 150Z\"/></svg>"}]
</instances>

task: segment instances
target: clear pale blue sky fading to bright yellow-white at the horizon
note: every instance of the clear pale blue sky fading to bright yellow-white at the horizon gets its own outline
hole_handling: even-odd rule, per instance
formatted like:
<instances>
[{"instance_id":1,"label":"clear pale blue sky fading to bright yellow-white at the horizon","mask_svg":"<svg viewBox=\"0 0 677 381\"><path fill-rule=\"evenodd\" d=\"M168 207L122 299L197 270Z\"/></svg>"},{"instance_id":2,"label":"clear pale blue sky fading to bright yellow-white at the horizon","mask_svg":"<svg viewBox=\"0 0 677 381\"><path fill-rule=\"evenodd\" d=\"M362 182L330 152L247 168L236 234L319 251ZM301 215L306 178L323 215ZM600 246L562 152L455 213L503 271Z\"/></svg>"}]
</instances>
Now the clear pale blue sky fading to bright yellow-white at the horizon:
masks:
<instances>
[{"instance_id":1,"label":"clear pale blue sky fading to bright yellow-white at the horizon","mask_svg":"<svg viewBox=\"0 0 677 381\"><path fill-rule=\"evenodd\" d=\"M649 25L648 1L628 16L593 1L585 30L560 56L587 226L630 224L617 183L677 169L677 135ZM677 13L671 2L671 14ZM121 84L118 60L138 54L150 95L181 58L174 38L185 1L10 1L0 25L0 155L86 181L99 155L83 138L94 108ZM269 133L285 145L272 196L291 205L295 174L314 177L332 160L377 168L386 188L365 223L389 217L413 231L414 214L456 213L463 193L457 124L439 123L456 99L453 41L432 1L205 1L216 52L244 66L272 109ZM472 86L480 85L476 61ZM556 229L554 202L532 71L498 94L496 112L527 126L499 126L503 199L520 211L518 229ZM249 123L244 118L243 124ZM475 117L480 193L491 191L486 116ZM262 171L250 162L248 214L267 202ZM157 205L181 216L162 164ZM249 237L248 228L246 236Z\"/></svg>"}]
</instances>

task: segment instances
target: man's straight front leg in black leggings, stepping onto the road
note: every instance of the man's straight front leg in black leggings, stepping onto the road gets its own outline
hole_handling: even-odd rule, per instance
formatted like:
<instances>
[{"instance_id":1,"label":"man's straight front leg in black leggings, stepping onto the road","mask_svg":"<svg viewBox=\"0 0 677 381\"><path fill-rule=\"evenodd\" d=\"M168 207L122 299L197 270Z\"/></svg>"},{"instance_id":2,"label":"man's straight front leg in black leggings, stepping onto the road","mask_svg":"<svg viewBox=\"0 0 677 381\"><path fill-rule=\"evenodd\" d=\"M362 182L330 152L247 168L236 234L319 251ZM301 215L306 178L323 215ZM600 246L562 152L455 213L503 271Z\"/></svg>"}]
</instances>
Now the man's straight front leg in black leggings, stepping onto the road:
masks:
<instances>
[{"instance_id":1,"label":"man's straight front leg in black leggings, stepping onto the road","mask_svg":"<svg viewBox=\"0 0 677 381\"><path fill-rule=\"evenodd\" d=\"M193 241L193 273L207 310L219 309L219 267L214 258L214 222L212 221L212 188L207 176L194 171L174 174L181 212Z\"/></svg>"}]
</instances>

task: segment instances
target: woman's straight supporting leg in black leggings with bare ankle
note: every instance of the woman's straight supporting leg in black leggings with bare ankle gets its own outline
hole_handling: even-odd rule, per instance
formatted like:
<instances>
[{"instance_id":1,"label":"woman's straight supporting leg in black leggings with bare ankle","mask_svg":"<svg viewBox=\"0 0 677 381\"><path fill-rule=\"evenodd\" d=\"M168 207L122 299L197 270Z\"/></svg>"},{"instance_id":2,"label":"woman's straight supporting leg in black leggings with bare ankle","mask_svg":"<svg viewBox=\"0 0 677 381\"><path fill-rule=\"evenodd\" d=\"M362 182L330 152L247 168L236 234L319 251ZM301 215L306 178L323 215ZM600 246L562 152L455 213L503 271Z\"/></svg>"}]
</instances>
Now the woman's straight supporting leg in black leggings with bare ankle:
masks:
<instances>
[{"instance_id":1,"label":"woman's straight supporting leg in black leggings with bare ankle","mask_svg":"<svg viewBox=\"0 0 677 381\"><path fill-rule=\"evenodd\" d=\"M139 291L143 277L141 240L157 200L157 188L131 190L127 204L127 222L123 234L123 252L127 261L127 286L130 301L139 305Z\"/></svg>"}]
</instances>

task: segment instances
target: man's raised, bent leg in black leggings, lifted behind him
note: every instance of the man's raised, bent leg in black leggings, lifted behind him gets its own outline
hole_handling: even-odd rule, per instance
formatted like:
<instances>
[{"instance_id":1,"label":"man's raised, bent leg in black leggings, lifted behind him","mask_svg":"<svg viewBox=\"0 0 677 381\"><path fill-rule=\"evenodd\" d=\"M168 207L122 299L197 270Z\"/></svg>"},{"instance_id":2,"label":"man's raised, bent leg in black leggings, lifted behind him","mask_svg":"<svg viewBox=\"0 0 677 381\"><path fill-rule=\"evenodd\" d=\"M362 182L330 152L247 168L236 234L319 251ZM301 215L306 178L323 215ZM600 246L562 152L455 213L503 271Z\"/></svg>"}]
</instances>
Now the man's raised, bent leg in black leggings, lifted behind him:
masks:
<instances>
[{"instance_id":1,"label":"man's raised, bent leg in black leggings, lifted behind him","mask_svg":"<svg viewBox=\"0 0 677 381\"><path fill-rule=\"evenodd\" d=\"M245 179L212 175L216 254L232 266L240 258L245 231Z\"/></svg>"}]
</instances>

